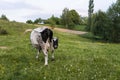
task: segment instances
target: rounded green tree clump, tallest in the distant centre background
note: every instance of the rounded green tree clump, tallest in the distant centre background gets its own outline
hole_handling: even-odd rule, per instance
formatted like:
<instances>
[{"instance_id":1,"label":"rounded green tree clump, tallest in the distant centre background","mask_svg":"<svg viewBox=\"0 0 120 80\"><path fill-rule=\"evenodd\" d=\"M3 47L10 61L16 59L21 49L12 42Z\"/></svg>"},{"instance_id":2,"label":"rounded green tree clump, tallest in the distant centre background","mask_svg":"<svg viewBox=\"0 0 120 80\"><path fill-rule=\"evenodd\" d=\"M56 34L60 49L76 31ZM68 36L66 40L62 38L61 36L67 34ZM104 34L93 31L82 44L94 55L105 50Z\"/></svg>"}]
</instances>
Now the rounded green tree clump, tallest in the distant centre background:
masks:
<instances>
[{"instance_id":1,"label":"rounded green tree clump, tallest in the distant centre background","mask_svg":"<svg viewBox=\"0 0 120 80\"><path fill-rule=\"evenodd\" d=\"M81 19L76 10L69 10L65 8L61 16L61 23L66 27L72 29L75 25L81 23Z\"/></svg>"}]
</instances>

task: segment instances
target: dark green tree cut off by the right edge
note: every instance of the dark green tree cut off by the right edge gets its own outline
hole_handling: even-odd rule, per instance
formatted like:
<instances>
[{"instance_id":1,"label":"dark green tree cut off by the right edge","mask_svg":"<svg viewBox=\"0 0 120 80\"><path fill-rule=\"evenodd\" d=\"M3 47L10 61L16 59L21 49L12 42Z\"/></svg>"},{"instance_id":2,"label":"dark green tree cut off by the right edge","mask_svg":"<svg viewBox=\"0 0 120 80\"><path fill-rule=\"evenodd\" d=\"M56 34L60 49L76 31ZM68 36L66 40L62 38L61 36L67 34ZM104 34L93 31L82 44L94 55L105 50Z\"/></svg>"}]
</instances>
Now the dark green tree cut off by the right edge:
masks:
<instances>
[{"instance_id":1,"label":"dark green tree cut off by the right edge","mask_svg":"<svg viewBox=\"0 0 120 80\"><path fill-rule=\"evenodd\" d=\"M111 41L120 42L120 0L109 7L107 15L112 21Z\"/></svg>"}]
</instances>

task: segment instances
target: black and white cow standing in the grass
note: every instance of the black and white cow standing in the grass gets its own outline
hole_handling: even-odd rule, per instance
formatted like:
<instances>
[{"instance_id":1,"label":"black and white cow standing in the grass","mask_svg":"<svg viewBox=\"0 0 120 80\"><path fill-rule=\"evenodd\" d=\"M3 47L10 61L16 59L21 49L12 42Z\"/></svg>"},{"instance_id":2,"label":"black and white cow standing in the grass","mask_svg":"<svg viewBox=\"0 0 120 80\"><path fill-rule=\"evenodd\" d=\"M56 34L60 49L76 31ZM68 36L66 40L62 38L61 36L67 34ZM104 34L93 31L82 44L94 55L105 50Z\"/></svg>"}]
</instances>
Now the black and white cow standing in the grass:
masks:
<instances>
[{"instance_id":1,"label":"black and white cow standing in the grass","mask_svg":"<svg viewBox=\"0 0 120 80\"><path fill-rule=\"evenodd\" d=\"M39 53L42 52L45 55L45 65L48 65L48 49L52 51L52 59L54 59L54 49L58 48L58 39L53 38L53 32L47 27L40 27L32 30L30 40L38 50L36 58L38 59Z\"/></svg>"}]
</instances>

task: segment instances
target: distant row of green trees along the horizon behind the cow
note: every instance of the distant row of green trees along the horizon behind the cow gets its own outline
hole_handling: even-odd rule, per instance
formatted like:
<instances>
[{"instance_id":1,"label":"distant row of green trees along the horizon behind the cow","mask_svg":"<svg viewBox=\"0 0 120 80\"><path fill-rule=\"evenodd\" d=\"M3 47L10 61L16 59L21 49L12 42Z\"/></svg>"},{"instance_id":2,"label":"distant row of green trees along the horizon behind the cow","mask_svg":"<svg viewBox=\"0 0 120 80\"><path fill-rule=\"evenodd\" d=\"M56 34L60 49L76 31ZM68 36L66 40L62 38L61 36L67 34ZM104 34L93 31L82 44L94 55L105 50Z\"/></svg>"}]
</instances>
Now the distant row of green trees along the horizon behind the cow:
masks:
<instances>
[{"instance_id":1,"label":"distant row of green trees along the horizon behind the cow","mask_svg":"<svg viewBox=\"0 0 120 80\"><path fill-rule=\"evenodd\" d=\"M69 29L72 29L75 25L87 24L87 17L81 17L76 10L69 10L68 8L63 9L60 17L52 15L47 20L42 20L41 18L38 19L36 19L37 21L27 20L26 23L40 24L41 22L44 22L44 24L50 24L51 26L63 25L65 28Z\"/></svg>"}]
</instances>

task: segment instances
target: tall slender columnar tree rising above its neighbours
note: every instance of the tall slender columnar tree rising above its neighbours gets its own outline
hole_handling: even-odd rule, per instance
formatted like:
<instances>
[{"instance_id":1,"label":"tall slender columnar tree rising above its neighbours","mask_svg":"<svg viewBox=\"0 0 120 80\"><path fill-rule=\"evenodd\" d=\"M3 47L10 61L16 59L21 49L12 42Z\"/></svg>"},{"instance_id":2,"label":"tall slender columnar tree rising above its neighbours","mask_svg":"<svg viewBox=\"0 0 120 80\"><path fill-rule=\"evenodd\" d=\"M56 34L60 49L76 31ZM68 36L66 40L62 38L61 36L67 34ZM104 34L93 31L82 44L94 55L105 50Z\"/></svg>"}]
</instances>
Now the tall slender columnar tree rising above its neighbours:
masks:
<instances>
[{"instance_id":1,"label":"tall slender columnar tree rising above its neighbours","mask_svg":"<svg viewBox=\"0 0 120 80\"><path fill-rule=\"evenodd\" d=\"M86 27L87 31L90 31L91 29L91 24L92 24L92 14L94 11L94 0L89 0L89 9L88 9L88 24Z\"/></svg>"}]
</instances>

